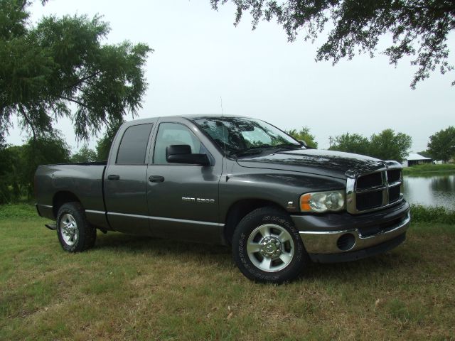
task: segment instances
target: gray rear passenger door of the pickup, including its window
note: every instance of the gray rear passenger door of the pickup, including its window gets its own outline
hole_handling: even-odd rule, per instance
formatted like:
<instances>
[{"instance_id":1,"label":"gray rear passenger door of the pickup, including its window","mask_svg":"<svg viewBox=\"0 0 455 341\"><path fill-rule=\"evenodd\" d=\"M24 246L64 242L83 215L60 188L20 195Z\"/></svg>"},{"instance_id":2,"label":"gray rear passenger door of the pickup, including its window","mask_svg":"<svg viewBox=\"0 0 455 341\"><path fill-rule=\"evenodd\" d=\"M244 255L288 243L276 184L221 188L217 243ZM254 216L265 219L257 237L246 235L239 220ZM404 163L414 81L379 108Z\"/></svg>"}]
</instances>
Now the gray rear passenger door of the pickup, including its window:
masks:
<instances>
[{"instance_id":1,"label":"gray rear passenger door of the pickup, including its window","mask_svg":"<svg viewBox=\"0 0 455 341\"><path fill-rule=\"evenodd\" d=\"M104 186L107 219L115 231L150 234L146 156L152 128L153 123L127 126L112 144Z\"/></svg>"}]
</instances>

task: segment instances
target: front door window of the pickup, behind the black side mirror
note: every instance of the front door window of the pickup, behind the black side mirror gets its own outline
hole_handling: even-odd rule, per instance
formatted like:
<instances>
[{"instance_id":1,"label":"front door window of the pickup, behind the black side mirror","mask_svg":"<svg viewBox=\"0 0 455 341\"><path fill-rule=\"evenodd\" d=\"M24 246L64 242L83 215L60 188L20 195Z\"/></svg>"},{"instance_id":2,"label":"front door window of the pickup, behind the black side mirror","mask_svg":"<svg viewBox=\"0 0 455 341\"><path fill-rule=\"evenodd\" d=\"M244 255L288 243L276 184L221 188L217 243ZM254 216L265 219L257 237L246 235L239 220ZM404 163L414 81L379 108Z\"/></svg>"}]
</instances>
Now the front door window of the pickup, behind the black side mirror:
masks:
<instances>
[{"instance_id":1,"label":"front door window of the pickup, behind the black side mirror","mask_svg":"<svg viewBox=\"0 0 455 341\"><path fill-rule=\"evenodd\" d=\"M191 153L200 153L200 141L190 129L183 124L161 123L156 135L154 163L168 163L166 147L173 144L188 144L191 146Z\"/></svg>"}]
</instances>

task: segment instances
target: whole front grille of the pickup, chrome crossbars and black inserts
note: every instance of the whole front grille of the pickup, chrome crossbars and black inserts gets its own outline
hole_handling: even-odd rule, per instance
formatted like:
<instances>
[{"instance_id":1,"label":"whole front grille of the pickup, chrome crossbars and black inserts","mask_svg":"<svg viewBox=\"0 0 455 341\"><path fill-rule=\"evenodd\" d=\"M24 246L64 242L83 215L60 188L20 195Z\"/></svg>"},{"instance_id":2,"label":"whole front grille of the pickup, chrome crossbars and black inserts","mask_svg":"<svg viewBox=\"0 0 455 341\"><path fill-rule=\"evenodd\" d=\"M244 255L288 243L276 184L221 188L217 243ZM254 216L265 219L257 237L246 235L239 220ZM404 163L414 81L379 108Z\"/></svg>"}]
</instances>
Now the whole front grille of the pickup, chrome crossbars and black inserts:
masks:
<instances>
[{"instance_id":1,"label":"whole front grille of the pickup, chrome crossbars and black inserts","mask_svg":"<svg viewBox=\"0 0 455 341\"><path fill-rule=\"evenodd\" d=\"M348 178L347 210L357 214L380 210L402 200L402 172L389 169Z\"/></svg>"}]
</instances>

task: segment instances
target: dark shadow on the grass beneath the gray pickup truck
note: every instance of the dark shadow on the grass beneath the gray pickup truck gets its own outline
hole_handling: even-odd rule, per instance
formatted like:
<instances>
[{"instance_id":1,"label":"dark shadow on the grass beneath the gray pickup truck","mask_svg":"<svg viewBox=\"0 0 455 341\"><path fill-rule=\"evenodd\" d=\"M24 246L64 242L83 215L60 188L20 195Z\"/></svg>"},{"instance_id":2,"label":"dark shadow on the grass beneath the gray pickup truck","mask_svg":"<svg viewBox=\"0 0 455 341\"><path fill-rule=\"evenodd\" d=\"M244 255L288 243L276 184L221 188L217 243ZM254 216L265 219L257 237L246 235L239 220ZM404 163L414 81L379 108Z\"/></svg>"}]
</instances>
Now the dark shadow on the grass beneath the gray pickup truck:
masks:
<instances>
[{"instance_id":1,"label":"dark shadow on the grass beneath the gray pickup truck","mask_svg":"<svg viewBox=\"0 0 455 341\"><path fill-rule=\"evenodd\" d=\"M129 234L110 233L99 234L95 249L122 251L126 253L153 253L168 255L172 258L198 259L207 263L216 263L226 266L226 261L232 265L230 247L220 245L199 244L196 242L182 242L170 239L141 237ZM414 257L403 247L389 251L385 254L371 256L358 261L349 261L333 264L310 263L299 281L324 280L336 278L336 282L345 283L355 278L365 278L373 274L402 274L409 271L414 264Z\"/></svg>"}]
</instances>

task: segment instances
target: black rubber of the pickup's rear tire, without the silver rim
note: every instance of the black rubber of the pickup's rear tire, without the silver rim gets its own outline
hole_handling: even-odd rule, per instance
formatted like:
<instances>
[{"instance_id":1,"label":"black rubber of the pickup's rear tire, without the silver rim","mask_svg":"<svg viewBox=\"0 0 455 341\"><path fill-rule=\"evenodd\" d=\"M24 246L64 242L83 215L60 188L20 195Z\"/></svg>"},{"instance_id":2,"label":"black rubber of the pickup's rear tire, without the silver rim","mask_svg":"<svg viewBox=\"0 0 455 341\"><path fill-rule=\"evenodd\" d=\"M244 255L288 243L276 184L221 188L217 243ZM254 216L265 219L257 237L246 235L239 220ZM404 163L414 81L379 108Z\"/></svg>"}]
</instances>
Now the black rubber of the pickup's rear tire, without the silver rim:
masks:
<instances>
[{"instance_id":1,"label":"black rubber of the pickup's rear tire, without the silver rim","mask_svg":"<svg viewBox=\"0 0 455 341\"><path fill-rule=\"evenodd\" d=\"M63 215L65 214L70 214L73 216L73 218L76 221L77 224L77 232L78 232L78 237L74 245L68 245L66 244L65 240L62 237L61 231L60 231L60 222L62 220ZM85 214L82 210L82 207L78 205L77 203L68 203L62 205L60 207L60 210L58 210L58 215L57 215L57 235L58 235L58 241L60 242L60 245L65 251L68 252L77 252L77 251L82 251L85 249L85 244L84 241L86 239L86 234L90 233L90 226L87 223L87 220L85 219Z\"/></svg>"}]
</instances>

